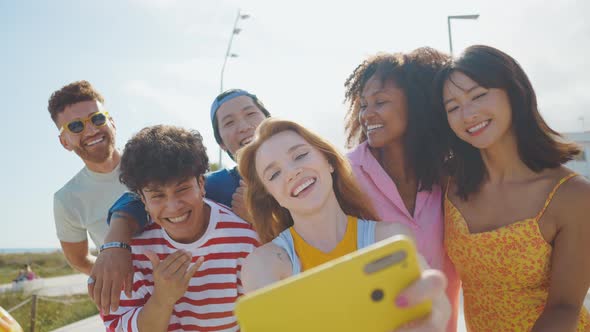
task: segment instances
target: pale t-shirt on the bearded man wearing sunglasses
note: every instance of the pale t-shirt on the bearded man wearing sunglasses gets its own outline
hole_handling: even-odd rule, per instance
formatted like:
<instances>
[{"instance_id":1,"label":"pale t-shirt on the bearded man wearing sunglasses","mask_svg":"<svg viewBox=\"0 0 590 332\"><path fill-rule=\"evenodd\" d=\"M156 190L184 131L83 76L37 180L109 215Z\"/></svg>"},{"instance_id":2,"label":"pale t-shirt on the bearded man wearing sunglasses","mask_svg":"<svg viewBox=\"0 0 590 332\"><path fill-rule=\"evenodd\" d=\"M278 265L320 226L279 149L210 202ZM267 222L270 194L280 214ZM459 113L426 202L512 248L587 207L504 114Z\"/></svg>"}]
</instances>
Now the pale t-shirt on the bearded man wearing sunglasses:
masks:
<instances>
[{"instance_id":1,"label":"pale t-shirt on the bearded man wearing sunglasses","mask_svg":"<svg viewBox=\"0 0 590 332\"><path fill-rule=\"evenodd\" d=\"M57 237L63 242L87 240L98 248L104 242L109 208L127 190L119 182L119 166L110 173L84 167L53 196Z\"/></svg>"}]
</instances>

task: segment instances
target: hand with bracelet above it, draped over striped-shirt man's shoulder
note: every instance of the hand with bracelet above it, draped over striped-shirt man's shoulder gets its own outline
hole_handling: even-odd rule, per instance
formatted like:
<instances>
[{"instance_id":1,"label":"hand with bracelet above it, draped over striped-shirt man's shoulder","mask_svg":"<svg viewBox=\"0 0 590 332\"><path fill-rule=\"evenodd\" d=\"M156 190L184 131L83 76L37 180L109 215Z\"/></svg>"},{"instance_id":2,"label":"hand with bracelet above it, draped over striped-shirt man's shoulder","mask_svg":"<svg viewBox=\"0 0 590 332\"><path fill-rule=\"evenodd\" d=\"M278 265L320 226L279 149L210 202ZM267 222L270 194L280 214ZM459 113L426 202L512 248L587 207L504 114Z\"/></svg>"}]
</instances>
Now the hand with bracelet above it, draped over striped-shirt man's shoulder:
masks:
<instances>
[{"instance_id":1,"label":"hand with bracelet above it, draped over striped-shirt man's shoulder","mask_svg":"<svg viewBox=\"0 0 590 332\"><path fill-rule=\"evenodd\" d=\"M119 308L121 290L131 297L133 289L133 263L131 252L125 248L110 248L98 255L90 272L94 283L88 284L88 295L106 315Z\"/></svg>"}]
</instances>

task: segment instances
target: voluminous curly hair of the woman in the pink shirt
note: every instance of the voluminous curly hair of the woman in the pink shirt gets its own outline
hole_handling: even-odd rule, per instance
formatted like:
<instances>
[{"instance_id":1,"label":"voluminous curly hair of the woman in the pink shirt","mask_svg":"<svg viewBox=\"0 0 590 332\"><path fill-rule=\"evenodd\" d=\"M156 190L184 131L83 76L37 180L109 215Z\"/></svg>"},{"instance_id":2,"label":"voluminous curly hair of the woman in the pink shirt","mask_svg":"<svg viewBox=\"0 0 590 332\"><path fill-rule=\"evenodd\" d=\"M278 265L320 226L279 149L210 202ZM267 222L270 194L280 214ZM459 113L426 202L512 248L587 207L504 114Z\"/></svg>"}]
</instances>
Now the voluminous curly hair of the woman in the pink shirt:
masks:
<instances>
[{"instance_id":1,"label":"voluminous curly hair of the woman in the pink shirt","mask_svg":"<svg viewBox=\"0 0 590 332\"><path fill-rule=\"evenodd\" d=\"M406 160L414 169L420 188L431 190L440 183L444 155L439 121L432 98L432 84L436 73L450 60L449 56L433 48L421 47L410 53L380 53L363 61L346 79L345 117L347 147L352 148L367 137L359 120L360 99L365 85L373 76L382 83L392 81L403 91L408 105L408 128L404 137Z\"/></svg>"}]
</instances>

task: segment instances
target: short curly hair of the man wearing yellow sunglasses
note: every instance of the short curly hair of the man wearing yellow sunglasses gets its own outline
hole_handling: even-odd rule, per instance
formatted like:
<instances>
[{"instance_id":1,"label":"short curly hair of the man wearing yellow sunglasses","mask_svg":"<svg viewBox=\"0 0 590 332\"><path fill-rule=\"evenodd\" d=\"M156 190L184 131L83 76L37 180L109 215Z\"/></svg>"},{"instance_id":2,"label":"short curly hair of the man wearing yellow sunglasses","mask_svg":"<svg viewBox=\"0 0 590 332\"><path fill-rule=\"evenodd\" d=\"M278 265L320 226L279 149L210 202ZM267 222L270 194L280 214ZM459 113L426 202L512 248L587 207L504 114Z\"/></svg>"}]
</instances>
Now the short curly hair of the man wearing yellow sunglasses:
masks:
<instances>
[{"instance_id":1,"label":"short curly hair of the man wearing yellow sunglasses","mask_svg":"<svg viewBox=\"0 0 590 332\"><path fill-rule=\"evenodd\" d=\"M102 95L88 81L76 81L55 91L49 97L47 109L51 120L57 122L57 115L70 106L83 101L96 100L104 104Z\"/></svg>"}]
</instances>

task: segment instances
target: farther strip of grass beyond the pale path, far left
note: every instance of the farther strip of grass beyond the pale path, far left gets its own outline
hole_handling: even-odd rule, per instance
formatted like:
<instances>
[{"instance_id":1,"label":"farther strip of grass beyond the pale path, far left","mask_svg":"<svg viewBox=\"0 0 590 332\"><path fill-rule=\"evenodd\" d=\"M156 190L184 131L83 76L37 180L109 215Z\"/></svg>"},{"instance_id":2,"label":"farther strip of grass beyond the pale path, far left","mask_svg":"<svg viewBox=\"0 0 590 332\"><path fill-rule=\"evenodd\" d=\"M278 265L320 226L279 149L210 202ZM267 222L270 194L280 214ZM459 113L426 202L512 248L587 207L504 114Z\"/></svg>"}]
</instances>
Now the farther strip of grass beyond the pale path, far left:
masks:
<instances>
[{"instance_id":1,"label":"farther strip of grass beyond the pale path, far left","mask_svg":"<svg viewBox=\"0 0 590 332\"><path fill-rule=\"evenodd\" d=\"M0 255L0 284L11 283L25 264L42 278L59 277L78 273L68 265L63 253L23 253Z\"/></svg>"}]
</instances>

